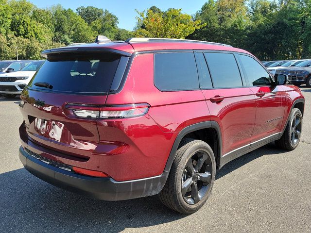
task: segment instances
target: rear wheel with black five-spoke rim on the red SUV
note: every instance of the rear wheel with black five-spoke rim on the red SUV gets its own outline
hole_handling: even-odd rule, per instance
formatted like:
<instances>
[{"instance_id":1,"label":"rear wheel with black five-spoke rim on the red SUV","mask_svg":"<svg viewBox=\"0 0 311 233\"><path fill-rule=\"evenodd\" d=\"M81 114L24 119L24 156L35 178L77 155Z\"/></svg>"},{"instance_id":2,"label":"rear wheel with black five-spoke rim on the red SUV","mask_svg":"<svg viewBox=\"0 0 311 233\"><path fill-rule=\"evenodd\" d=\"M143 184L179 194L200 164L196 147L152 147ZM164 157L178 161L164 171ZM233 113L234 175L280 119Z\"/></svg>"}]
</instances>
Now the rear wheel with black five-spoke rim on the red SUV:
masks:
<instances>
[{"instance_id":1,"label":"rear wheel with black five-spoke rim on the red SUV","mask_svg":"<svg viewBox=\"0 0 311 233\"><path fill-rule=\"evenodd\" d=\"M176 151L170 175L159 198L165 206L176 212L192 214L210 196L215 174L216 161L210 146L201 140L184 139Z\"/></svg>"}]
</instances>

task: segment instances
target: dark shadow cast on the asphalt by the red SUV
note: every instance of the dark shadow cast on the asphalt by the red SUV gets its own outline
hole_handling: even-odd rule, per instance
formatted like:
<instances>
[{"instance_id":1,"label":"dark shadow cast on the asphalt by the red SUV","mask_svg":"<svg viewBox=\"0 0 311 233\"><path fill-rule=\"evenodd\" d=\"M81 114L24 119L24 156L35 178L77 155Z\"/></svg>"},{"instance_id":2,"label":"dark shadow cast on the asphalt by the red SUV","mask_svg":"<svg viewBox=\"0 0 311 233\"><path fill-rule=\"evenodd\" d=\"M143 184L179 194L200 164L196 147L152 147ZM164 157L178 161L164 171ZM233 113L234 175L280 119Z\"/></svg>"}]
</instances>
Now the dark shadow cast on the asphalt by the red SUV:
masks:
<instances>
[{"instance_id":1,"label":"dark shadow cast on the asphalt by the red SUV","mask_svg":"<svg viewBox=\"0 0 311 233\"><path fill-rule=\"evenodd\" d=\"M231 161L216 179L263 155L281 152L267 145ZM121 232L185 217L164 207L156 196L93 200L45 183L24 168L0 174L0 187L0 232Z\"/></svg>"}]
</instances>

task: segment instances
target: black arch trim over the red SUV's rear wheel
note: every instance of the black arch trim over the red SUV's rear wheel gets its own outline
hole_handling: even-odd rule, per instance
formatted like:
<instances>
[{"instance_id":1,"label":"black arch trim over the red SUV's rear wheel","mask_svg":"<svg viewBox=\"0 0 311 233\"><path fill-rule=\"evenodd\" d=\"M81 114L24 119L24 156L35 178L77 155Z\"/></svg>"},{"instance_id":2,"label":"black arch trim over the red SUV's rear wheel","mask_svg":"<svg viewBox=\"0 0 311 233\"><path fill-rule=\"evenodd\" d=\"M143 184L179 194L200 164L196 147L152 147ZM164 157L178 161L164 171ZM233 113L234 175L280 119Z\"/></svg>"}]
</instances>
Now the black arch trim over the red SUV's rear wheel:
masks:
<instances>
[{"instance_id":1,"label":"black arch trim over the red SUV's rear wheel","mask_svg":"<svg viewBox=\"0 0 311 233\"><path fill-rule=\"evenodd\" d=\"M180 131L174 141L172 150L170 152L169 158L166 162L166 166L164 168L164 172L170 171L173 165L174 159L176 157L176 151L178 150L178 146L181 140L188 134L197 130L212 128L217 133L217 154L215 154L216 166L219 166L219 160L222 154L222 133L219 124L216 121L203 121L199 123L195 123L193 125L189 125L185 127L182 131Z\"/></svg>"}]
</instances>

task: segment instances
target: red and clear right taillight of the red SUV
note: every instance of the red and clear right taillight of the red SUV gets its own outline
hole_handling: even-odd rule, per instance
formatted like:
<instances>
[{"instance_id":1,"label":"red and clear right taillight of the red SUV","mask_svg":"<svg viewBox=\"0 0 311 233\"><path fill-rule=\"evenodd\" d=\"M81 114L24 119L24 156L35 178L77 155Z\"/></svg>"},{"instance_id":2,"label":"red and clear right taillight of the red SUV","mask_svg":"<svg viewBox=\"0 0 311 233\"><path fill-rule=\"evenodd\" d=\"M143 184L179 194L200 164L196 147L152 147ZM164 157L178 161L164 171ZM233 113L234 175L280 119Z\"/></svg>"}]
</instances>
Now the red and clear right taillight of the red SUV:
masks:
<instances>
[{"instance_id":1,"label":"red and clear right taillight of the red SUV","mask_svg":"<svg viewBox=\"0 0 311 233\"><path fill-rule=\"evenodd\" d=\"M75 116L93 119L120 119L144 116L147 114L150 105L147 103L124 104L124 105L87 105L68 103L65 106Z\"/></svg>"}]
</instances>

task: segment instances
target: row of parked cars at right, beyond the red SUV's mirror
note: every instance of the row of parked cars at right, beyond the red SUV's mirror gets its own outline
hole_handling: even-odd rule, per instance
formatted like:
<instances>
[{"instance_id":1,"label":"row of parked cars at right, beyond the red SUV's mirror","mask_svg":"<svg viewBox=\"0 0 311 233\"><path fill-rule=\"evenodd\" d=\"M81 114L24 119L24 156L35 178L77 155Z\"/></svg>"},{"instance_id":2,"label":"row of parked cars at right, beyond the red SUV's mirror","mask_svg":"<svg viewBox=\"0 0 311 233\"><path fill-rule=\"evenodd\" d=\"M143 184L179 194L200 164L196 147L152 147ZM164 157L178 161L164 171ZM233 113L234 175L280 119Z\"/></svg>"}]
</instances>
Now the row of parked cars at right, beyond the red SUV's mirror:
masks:
<instances>
[{"instance_id":1,"label":"row of parked cars at right, beyond the red SUV's mirror","mask_svg":"<svg viewBox=\"0 0 311 233\"><path fill-rule=\"evenodd\" d=\"M311 87L311 59L262 62L272 75L284 74L289 83Z\"/></svg>"}]
</instances>

